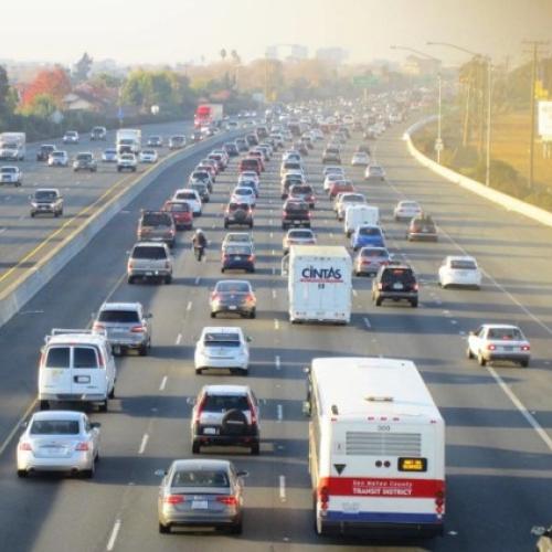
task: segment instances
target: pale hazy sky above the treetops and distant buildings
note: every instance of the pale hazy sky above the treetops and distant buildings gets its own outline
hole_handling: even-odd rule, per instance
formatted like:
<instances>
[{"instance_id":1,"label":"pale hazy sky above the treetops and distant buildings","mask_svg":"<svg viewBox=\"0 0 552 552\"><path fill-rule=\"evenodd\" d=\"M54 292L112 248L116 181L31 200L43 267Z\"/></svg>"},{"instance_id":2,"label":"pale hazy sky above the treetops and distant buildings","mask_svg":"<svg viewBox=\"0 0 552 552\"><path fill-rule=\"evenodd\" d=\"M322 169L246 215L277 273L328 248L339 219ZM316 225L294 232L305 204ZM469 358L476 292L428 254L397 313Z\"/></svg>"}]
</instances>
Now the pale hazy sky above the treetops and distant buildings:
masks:
<instances>
[{"instance_id":1,"label":"pale hazy sky above the treetops and distant buildings","mask_svg":"<svg viewBox=\"0 0 552 552\"><path fill-rule=\"evenodd\" d=\"M221 47L250 61L269 44L341 46L351 62L400 60L390 44L446 63L453 42L497 61L520 59L523 39L552 40L552 0L2 0L0 57L74 62L84 51L120 63L216 59ZM8 8L9 6L9 8ZM549 46L552 53L552 42Z\"/></svg>"}]
</instances>

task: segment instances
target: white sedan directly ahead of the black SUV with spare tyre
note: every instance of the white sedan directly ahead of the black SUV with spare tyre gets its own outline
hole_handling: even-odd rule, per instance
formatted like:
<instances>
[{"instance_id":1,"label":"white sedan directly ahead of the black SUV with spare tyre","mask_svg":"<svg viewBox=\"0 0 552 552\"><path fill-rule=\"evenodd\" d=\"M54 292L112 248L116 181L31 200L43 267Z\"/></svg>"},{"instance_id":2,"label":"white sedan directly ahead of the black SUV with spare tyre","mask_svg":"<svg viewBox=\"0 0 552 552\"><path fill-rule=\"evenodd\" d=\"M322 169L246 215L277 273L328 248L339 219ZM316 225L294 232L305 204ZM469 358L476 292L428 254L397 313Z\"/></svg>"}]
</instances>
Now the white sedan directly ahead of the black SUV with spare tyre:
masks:
<instances>
[{"instance_id":1,"label":"white sedan directly ahead of the black SUV with spare tyre","mask_svg":"<svg viewBox=\"0 0 552 552\"><path fill-rule=\"evenodd\" d=\"M205 327L195 343L195 373L200 374L209 368L227 369L231 373L245 373L250 367L251 338L242 328Z\"/></svg>"}]
</instances>

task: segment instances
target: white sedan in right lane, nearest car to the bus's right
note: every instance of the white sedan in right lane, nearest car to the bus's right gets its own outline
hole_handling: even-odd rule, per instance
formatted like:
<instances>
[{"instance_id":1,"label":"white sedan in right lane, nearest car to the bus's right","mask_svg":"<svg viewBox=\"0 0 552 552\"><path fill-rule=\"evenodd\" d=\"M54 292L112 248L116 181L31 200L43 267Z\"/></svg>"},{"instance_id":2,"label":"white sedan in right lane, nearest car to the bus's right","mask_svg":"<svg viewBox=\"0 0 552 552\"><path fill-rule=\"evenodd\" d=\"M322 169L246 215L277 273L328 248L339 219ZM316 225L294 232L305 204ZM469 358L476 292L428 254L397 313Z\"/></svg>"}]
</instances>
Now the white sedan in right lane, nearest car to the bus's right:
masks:
<instances>
[{"instance_id":1,"label":"white sedan in right lane, nearest car to the bus's right","mask_svg":"<svg viewBox=\"0 0 552 552\"><path fill-rule=\"evenodd\" d=\"M477 358L481 367L495 360L506 360L529 365L531 346L517 326L484 323L468 336L468 359Z\"/></svg>"}]
</instances>

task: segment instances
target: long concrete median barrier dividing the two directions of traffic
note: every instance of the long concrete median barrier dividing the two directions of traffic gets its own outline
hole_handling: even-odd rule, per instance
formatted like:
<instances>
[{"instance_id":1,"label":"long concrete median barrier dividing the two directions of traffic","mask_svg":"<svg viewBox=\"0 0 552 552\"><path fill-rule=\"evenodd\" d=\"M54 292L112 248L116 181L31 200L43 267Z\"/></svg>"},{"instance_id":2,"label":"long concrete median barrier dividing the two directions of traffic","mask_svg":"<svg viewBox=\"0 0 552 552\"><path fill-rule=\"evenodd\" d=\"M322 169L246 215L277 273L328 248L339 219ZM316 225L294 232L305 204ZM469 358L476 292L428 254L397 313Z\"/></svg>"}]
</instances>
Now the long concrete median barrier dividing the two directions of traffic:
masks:
<instances>
[{"instance_id":1,"label":"long concrete median barrier dividing the two directions of traffic","mask_svg":"<svg viewBox=\"0 0 552 552\"><path fill-rule=\"evenodd\" d=\"M238 136L238 131L226 132L229 139ZM42 257L34 267L26 270L18 280L0 294L0 328L7 323L29 300L31 300L75 255L86 247L92 238L125 206L137 198L161 172L177 162L212 147L221 136L214 136L198 144L199 147L185 148L170 153L168 158L149 168L145 173L95 211L83 225L75 229L52 251Z\"/></svg>"}]
</instances>

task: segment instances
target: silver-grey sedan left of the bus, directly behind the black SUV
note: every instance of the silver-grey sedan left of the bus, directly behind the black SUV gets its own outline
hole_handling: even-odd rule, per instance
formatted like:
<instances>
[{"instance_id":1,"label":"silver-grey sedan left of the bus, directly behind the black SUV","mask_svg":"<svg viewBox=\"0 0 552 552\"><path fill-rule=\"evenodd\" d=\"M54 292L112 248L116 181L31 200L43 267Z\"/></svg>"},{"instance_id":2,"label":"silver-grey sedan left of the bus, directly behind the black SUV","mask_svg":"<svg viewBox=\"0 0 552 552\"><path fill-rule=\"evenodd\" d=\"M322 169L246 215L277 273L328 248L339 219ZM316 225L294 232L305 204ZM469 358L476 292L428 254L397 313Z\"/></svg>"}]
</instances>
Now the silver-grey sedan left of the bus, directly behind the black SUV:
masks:
<instances>
[{"instance_id":1,"label":"silver-grey sedan left of the bus, directly behind the black SUV","mask_svg":"<svg viewBox=\"0 0 552 552\"><path fill-rule=\"evenodd\" d=\"M243 477L229 460L174 460L162 476L159 532L173 527L214 527L242 532Z\"/></svg>"}]
</instances>

